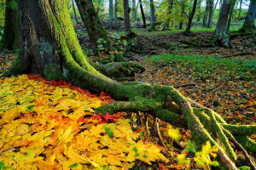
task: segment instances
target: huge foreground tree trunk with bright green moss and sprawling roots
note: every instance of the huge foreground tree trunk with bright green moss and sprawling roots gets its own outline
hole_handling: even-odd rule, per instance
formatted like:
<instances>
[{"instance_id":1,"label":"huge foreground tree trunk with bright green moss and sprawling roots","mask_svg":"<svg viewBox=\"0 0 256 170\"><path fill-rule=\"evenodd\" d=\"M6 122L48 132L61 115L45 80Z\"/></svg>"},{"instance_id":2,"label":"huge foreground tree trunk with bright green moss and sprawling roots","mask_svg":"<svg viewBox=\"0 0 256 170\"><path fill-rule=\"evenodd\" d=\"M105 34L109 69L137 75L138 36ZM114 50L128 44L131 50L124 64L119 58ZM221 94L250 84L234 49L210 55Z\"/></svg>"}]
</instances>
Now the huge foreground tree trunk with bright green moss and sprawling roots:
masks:
<instances>
[{"instance_id":1,"label":"huge foreground tree trunk with bright green moss and sprawling roots","mask_svg":"<svg viewBox=\"0 0 256 170\"><path fill-rule=\"evenodd\" d=\"M41 6L39 6L41 4ZM236 169L231 160L236 154L229 140L239 140L256 153L256 144L248 139L255 126L229 125L218 114L184 97L175 88L142 82L116 82L102 75L83 54L75 35L67 3L63 0L20 0L21 54L3 76L36 73L47 79L64 79L93 92L108 92L121 100L103 105L97 112L148 111L166 122L183 123L191 130L192 140L210 141L218 147L219 160Z\"/></svg>"}]
</instances>

